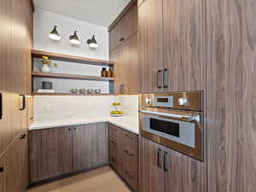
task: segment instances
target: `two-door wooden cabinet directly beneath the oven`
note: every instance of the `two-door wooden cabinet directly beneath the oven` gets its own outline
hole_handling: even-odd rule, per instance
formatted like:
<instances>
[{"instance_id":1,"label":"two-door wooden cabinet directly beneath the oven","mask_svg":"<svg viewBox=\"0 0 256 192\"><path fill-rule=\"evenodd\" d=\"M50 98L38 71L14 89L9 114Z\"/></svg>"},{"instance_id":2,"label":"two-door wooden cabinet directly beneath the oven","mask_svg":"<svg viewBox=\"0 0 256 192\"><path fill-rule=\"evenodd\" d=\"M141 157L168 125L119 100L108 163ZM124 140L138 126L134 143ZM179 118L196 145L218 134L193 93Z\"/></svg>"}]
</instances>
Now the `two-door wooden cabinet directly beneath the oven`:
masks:
<instances>
[{"instance_id":1,"label":"two-door wooden cabinet directly beneath the oven","mask_svg":"<svg viewBox=\"0 0 256 192\"><path fill-rule=\"evenodd\" d=\"M141 191L206 191L204 163L140 137Z\"/></svg>"}]
</instances>

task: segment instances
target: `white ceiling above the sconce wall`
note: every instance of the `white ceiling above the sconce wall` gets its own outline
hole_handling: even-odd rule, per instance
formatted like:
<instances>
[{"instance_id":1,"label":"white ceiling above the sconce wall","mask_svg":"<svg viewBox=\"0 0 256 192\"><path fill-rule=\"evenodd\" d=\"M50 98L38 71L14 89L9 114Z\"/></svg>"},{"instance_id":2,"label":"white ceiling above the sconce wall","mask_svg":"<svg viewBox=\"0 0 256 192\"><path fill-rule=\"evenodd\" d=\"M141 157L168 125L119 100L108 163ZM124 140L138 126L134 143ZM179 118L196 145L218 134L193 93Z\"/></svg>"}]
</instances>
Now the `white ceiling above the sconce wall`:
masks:
<instances>
[{"instance_id":1,"label":"white ceiling above the sconce wall","mask_svg":"<svg viewBox=\"0 0 256 192\"><path fill-rule=\"evenodd\" d=\"M130 0L34 0L36 8L108 27Z\"/></svg>"}]
</instances>

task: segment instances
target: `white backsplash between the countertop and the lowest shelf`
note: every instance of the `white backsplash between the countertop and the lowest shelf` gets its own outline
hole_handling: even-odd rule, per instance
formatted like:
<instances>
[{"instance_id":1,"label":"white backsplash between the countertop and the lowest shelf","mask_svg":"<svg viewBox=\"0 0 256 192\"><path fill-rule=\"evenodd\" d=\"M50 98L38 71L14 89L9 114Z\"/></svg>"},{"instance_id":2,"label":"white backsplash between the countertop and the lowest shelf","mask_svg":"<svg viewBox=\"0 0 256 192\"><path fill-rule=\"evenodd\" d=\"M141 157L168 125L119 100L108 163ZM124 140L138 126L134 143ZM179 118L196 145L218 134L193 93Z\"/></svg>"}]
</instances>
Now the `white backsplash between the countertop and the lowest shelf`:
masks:
<instances>
[{"instance_id":1,"label":"white backsplash between the countertop and the lowest shelf","mask_svg":"<svg viewBox=\"0 0 256 192\"><path fill-rule=\"evenodd\" d=\"M34 96L34 119L108 117L113 102L121 102L125 116L137 117L138 96Z\"/></svg>"}]
</instances>

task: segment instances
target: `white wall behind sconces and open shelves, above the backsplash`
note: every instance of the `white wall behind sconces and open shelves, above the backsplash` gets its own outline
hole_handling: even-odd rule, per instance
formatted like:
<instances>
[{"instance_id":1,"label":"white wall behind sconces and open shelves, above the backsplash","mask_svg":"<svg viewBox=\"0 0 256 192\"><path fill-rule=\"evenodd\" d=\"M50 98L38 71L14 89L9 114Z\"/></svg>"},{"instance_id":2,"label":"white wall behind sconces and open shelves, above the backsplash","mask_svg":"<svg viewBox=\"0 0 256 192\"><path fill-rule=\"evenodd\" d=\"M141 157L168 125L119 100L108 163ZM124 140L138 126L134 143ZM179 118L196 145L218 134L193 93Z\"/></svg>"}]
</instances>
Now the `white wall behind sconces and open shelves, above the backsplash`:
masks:
<instances>
[{"instance_id":1,"label":"white wall behind sconces and open shelves, above the backsplash","mask_svg":"<svg viewBox=\"0 0 256 192\"><path fill-rule=\"evenodd\" d=\"M49 39L49 32L54 26L61 36L60 41ZM78 31L81 41L79 45L69 43L69 36L74 31ZM81 20L75 20L63 15L36 9L34 14L34 44L33 49L46 50L67 55L78 55L102 60L108 60L108 28L96 26ZM99 44L97 49L90 49L86 43L88 38L96 35L96 41ZM55 73L71 73L81 75L101 76L102 67L74 64L64 61L57 62L58 68L54 69ZM34 70L40 70L40 60L34 59ZM109 92L108 82L83 81L83 80L63 80L63 79L34 79L34 91L41 88L42 81L48 80L53 82L56 92L69 92L70 89L101 89L102 93Z\"/></svg>"}]
</instances>

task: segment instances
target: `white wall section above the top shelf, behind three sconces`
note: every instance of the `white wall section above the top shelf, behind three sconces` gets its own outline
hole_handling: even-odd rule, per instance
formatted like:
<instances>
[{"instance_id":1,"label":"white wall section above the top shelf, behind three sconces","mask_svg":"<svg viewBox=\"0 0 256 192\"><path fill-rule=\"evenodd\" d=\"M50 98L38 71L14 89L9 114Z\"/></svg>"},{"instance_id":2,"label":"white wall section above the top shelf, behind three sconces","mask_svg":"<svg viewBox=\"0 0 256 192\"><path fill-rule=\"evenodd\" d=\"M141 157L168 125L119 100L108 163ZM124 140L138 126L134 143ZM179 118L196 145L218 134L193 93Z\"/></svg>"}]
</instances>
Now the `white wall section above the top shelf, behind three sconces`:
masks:
<instances>
[{"instance_id":1,"label":"white wall section above the top shelf, behind three sconces","mask_svg":"<svg viewBox=\"0 0 256 192\"><path fill-rule=\"evenodd\" d=\"M61 6L61 5L60 5ZM61 36L60 41L49 39L49 32L54 26ZM74 46L69 43L69 36L78 31L81 44ZM79 55L96 59L108 60L108 28L96 26L82 20L75 20L63 15L36 9L34 14L34 48L48 50L67 55ZM97 49L89 49L87 39L96 35L99 44Z\"/></svg>"}]
</instances>

